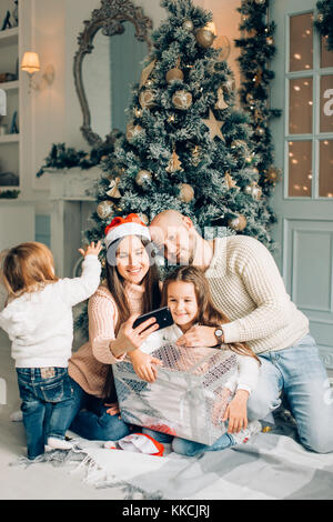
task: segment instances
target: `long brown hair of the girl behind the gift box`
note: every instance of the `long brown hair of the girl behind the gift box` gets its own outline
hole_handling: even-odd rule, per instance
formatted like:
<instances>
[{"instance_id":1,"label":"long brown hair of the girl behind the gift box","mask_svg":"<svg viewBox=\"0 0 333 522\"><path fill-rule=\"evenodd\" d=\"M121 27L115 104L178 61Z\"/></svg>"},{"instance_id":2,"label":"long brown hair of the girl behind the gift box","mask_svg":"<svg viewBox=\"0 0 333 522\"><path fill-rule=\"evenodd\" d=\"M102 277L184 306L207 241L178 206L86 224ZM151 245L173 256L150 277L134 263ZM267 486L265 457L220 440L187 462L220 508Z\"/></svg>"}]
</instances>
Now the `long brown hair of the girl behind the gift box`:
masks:
<instances>
[{"instance_id":1,"label":"long brown hair of the girl behind the gift box","mask_svg":"<svg viewBox=\"0 0 333 522\"><path fill-rule=\"evenodd\" d=\"M162 307L168 305L168 288L169 284L175 281L182 281L192 283L194 285L194 292L198 303L198 318L196 322L204 327L220 328L221 324L230 322L228 317L216 309L213 304L210 287L208 279L204 275L203 270L198 267L180 267L174 270L164 281L162 290ZM243 342L234 342L226 344L228 349L232 350L240 355L249 355L256 359L260 363L260 359L251 350L248 344Z\"/></svg>"}]
</instances>

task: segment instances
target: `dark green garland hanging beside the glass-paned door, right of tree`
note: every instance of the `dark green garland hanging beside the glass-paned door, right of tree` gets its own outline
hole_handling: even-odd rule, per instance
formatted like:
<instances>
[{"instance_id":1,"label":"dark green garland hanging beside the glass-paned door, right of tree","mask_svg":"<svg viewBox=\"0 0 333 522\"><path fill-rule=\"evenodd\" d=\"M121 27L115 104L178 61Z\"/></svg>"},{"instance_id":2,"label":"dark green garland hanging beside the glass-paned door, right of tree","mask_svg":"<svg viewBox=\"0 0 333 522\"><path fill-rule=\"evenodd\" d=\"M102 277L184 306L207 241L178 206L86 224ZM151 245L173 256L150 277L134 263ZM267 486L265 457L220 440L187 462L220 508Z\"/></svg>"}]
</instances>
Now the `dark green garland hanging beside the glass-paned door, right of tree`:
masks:
<instances>
[{"instance_id":1,"label":"dark green garland hanging beside the glass-paned door, right of tree","mask_svg":"<svg viewBox=\"0 0 333 522\"><path fill-rule=\"evenodd\" d=\"M276 48L274 44L275 23L268 21L270 0L243 0L238 11L242 14L240 30L243 38L235 40L241 48L239 58L242 73L241 103L251 117L254 152L260 157L256 164L259 185L263 195L270 197L281 172L273 165L274 147L270 121L281 116L281 110L270 109L270 82L275 74L270 69Z\"/></svg>"}]
</instances>

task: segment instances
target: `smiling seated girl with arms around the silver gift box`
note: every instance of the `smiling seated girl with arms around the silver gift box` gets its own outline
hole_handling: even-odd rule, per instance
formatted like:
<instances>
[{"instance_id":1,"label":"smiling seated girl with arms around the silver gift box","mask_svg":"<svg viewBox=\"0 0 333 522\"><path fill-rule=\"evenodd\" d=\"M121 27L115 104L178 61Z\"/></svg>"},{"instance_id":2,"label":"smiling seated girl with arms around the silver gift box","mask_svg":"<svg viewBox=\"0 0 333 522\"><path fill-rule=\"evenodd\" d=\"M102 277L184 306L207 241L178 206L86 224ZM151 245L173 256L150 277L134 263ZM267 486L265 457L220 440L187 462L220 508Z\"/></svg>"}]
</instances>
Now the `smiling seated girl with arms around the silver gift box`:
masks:
<instances>
[{"instance_id":1,"label":"smiling seated girl with arms around the silver gift box","mask_svg":"<svg viewBox=\"0 0 333 522\"><path fill-rule=\"evenodd\" d=\"M129 354L137 374L148 382L153 382L157 378L157 367L150 353L164 341L176 342L195 324L219 329L221 324L228 322L226 317L212 303L204 272L195 267L181 267L168 277L162 290L162 305L170 308L174 324L152 333L140 349ZM216 344L219 344L218 338ZM248 424L246 416L246 403L251 391L256 385L260 361L246 344L233 343L221 345L221 348L232 350L238 359L238 372L225 383L221 391L221 401L213 412L214 422L228 421L228 433L211 446L173 439L172 446L178 453L194 455L201 451L222 450L246 441L251 434L261 430L258 421ZM231 396L233 393L233 399L223 411L225 395ZM151 432L148 429L143 429L143 432L151 434L160 442L170 442L172 439L170 435Z\"/></svg>"}]
</instances>

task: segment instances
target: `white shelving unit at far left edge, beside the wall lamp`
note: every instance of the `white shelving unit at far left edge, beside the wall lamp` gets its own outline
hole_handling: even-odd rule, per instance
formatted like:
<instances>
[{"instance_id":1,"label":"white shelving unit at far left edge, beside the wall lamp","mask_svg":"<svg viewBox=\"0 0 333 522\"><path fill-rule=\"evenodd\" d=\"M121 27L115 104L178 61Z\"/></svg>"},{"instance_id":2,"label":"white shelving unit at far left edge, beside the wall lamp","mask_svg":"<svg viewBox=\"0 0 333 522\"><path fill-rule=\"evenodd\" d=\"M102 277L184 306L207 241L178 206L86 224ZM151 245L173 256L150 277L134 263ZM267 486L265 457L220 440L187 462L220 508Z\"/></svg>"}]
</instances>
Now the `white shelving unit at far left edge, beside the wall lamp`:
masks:
<instances>
[{"instance_id":1,"label":"white shelving unit at far left edge, beside the wall lamp","mask_svg":"<svg viewBox=\"0 0 333 522\"><path fill-rule=\"evenodd\" d=\"M8 2L7 2L8 3ZM13 6L8 3L10 9ZM0 73L19 74L19 28L0 31ZM4 134L0 135L0 190L20 190L20 134L10 133L13 114L17 112L17 124L20 126L20 78L13 81L0 82L0 89L7 94L7 116L1 117L1 124L7 126ZM2 184L1 172L11 172L18 177L18 184Z\"/></svg>"}]
</instances>

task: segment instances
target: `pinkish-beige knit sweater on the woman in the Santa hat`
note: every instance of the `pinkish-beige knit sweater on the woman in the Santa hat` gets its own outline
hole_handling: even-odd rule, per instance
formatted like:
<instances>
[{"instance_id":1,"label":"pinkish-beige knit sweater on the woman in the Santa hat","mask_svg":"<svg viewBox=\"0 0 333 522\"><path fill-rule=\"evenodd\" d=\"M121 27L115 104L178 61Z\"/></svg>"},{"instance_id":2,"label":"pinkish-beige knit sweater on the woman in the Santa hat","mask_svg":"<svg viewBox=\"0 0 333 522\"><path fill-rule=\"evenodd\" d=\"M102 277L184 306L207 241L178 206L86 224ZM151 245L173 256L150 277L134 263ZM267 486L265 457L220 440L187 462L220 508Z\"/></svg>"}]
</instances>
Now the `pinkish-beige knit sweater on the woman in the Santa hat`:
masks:
<instances>
[{"instance_id":1,"label":"pinkish-beige knit sweater on the woman in the Santa hat","mask_svg":"<svg viewBox=\"0 0 333 522\"><path fill-rule=\"evenodd\" d=\"M127 295L132 313L142 313L142 293L138 284L127 285ZM121 361L110 351L110 341L115 338L118 310L110 291L101 285L88 303L89 342L83 344L69 360L69 374L90 395L102 396L109 364Z\"/></svg>"}]
</instances>

